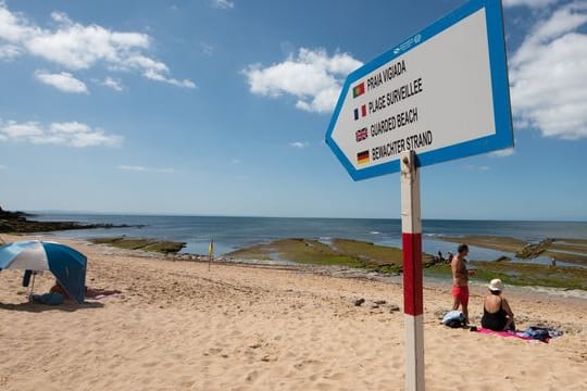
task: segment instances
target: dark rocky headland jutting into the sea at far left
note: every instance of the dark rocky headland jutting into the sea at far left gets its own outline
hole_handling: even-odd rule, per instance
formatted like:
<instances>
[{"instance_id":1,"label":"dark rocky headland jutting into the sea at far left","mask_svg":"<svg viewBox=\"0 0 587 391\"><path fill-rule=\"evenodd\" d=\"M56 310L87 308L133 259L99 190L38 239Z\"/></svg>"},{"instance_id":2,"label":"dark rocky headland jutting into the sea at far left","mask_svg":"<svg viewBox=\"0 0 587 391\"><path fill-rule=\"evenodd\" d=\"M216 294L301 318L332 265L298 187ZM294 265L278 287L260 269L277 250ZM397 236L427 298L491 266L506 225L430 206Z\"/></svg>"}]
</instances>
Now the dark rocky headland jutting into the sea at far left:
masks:
<instances>
[{"instance_id":1,"label":"dark rocky headland jutting into the sea at far left","mask_svg":"<svg viewBox=\"0 0 587 391\"><path fill-rule=\"evenodd\" d=\"M93 228L125 228L137 227L130 225L115 224L82 224L77 222L36 222L29 219L34 215L24 212L4 211L0 206L0 234L33 234L52 232L70 229L93 229Z\"/></svg>"}]
</instances>

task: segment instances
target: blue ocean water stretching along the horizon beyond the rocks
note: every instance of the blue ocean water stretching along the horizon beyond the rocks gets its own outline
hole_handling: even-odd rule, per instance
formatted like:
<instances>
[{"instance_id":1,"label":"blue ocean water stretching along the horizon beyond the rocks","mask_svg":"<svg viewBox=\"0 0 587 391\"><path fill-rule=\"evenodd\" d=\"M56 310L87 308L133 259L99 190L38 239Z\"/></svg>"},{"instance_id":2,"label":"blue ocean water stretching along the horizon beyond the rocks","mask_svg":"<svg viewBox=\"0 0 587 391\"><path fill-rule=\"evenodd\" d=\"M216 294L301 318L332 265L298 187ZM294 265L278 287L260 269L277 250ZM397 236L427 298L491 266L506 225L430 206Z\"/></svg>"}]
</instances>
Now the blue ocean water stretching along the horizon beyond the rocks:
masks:
<instances>
[{"instance_id":1,"label":"blue ocean water stretching along the horizon beyond the rocks","mask_svg":"<svg viewBox=\"0 0 587 391\"><path fill-rule=\"evenodd\" d=\"M186 242L184 253L207 254L210 240L215 253L226 254L251 244L283 238L308 238L328 241L332 238L355 239L375 244L401 247L400 219L367 218L285 218L221 216L154 216L108 214L36 214L38 220L72 220L93 224L135 225L142 227L79 229L46 234L67 238L140 237ZM587 239L587 222L500 222L500 220L423 220L423 250L430 254L457 252L455 243L439 240L439 236L487 235L504 236L538 242L546 238ZM470 260L492 261L513 254L470 247ZM527 262L527 261L525 261ZM538 257L536 263L548 264Z\"/></svg>"}]
</instances>

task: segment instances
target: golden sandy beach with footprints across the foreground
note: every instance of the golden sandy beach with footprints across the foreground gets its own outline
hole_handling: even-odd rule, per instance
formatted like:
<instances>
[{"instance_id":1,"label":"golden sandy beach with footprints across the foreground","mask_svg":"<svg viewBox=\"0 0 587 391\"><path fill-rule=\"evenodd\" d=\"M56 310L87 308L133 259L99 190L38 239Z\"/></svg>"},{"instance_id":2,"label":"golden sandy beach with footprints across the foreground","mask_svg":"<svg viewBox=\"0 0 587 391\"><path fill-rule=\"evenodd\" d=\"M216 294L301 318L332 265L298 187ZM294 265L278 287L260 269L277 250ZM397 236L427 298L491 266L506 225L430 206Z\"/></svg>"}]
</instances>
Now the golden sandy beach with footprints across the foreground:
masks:
<instances>
[{"instance_id":1,"label":"golden sandy beach with footprints across the foreground","mask_svg":"<svg viewBox=\"0 0 587 391\"><path fill-rule=\"evenodd\" d=\"M209 272L207 263L61 242L88 256L89 287L122 294L42 306L27 303L21 272L0 273L2 390L403 389L398 282L303 268ZM35 291L52 282L46 274ZM473 324L484 293L472 286ZM565 332L541 343L449 329L438 319L450 307L448 283L425 283L424 295L428 390L587 389L586 299L507 289L520 329Z\"/></svg>"}]
</instances>

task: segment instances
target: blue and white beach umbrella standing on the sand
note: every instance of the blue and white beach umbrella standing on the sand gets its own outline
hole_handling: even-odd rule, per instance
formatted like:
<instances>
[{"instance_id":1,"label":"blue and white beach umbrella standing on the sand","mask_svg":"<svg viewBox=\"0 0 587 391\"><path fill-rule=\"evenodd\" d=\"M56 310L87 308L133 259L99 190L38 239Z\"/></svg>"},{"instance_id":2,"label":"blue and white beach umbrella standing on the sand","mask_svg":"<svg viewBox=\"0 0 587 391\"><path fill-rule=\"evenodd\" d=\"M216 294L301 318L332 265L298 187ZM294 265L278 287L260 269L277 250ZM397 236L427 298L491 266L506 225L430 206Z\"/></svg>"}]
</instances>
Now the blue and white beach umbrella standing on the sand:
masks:
<instances>
[{"instance_id":1,"label":"blue and white beach umbrella standing on the sand","mask_svg":"<svg viewBox=\"0 0 587 391\"><path fill-rule=\"evenodd\" d=\"M78 303L85 298L86 263L86 255L55 242L30 240L0 247L0 270L49 270Z\"/></svg>"}]
</instances>

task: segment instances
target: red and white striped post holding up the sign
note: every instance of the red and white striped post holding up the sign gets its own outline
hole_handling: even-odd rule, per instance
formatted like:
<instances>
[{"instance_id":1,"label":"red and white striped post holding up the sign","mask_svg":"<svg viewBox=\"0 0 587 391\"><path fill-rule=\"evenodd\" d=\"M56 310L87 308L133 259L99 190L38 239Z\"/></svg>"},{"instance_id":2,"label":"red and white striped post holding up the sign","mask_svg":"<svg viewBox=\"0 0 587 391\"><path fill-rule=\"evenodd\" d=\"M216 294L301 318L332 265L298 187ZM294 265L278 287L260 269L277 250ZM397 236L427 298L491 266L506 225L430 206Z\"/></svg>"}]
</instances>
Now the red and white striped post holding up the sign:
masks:
<instances>
[{"instance_id":1,"label":"red and white striped post holding up the sign","mask_svg":"<svg viewBox=\"0 0 587 391\"><path fill-rule=\"evenodd\" d=\"M424 390L424 301L422 288L422 219L420 173L414 151L401 154L401 231L403 249L403 316L405 390Z\"/></svg>"}]
</instances>

